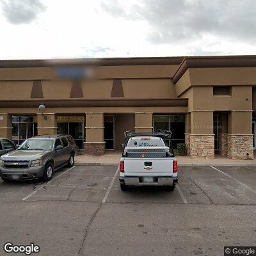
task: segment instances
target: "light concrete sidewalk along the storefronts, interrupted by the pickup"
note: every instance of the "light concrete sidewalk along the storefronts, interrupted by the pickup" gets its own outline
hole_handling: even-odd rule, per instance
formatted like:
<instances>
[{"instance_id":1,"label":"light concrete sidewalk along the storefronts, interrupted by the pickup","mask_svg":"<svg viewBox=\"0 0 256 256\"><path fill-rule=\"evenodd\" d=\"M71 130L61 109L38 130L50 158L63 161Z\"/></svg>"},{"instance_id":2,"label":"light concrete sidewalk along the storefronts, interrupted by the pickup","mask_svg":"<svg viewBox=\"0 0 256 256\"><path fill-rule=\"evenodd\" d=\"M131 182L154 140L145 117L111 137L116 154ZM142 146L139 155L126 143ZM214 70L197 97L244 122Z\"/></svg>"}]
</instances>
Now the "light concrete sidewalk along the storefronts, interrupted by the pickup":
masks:
<instances>
[{"instance_id":1,"label":"light concrete sidewalk along the storefronts, interrupted by the pickup","mask_svg":"<svg viewBox=\"0 0 256 256\"><path fill-rule=\"evenodd\" d=\"M76 165L118 165L121 151L107 151L104 156L76 156ZM215 159L191 159L188 156L177 156L179 166L256 166L253 160L231 160L223 156L215 156Z\"/></svg>"}]
</instances>

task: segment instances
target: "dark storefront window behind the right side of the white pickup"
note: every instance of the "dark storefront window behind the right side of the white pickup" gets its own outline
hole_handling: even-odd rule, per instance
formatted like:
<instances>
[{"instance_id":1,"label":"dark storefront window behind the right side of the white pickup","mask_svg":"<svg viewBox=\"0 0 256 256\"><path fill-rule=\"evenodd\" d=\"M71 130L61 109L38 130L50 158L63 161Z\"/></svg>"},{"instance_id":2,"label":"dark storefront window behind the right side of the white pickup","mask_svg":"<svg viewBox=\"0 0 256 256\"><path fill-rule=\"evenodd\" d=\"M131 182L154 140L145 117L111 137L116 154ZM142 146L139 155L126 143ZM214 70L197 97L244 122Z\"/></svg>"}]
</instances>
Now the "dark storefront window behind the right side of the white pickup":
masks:
<instances>
[{"instance_id":1,"label":"dark storefront window behind the right side of the white pickup","mask_svg":"<svg viewBox=\"0 0 256 256\"><path fill-rule=\"evenodd\" d=\"M184 115L155 115L153 116L154 132L172 131L172 146L177 148L178 143L185 143L185 116ZM166 145L168 140L165 141Z\"/></svg>"}]
</instances>

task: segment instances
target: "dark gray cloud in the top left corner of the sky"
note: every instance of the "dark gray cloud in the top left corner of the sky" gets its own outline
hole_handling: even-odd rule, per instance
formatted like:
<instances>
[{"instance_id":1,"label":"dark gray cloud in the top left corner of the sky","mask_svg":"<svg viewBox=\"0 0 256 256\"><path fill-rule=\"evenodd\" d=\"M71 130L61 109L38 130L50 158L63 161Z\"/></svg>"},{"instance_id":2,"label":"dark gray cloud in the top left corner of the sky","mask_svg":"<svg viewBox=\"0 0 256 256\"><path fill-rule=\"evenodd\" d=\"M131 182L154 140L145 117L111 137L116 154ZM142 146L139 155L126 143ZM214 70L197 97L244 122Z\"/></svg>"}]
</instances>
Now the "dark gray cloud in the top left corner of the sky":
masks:
<instances>
[{"instance_id":1,"label":"dark gray cloud in the top left corner of the sky","mask_svg":"<svg viewBox=\"0 0 256 256\"><path fill-rule=\"evenodd\" d=\"M40 0L1 0L4 17L12 24L28 24L46 7Z\"/></svg>"}]
</instances>

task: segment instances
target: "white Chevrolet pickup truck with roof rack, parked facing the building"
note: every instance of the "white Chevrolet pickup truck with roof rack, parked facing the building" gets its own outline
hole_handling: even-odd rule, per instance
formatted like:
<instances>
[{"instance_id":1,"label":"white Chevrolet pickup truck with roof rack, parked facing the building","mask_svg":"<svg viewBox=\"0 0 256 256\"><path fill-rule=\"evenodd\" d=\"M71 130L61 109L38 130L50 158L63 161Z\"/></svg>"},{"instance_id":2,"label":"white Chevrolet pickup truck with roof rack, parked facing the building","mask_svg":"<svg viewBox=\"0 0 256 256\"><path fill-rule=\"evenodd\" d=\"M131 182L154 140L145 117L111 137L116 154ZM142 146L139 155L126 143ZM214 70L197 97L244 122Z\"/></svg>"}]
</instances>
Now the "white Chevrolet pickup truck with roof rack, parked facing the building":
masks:
<instances>
[{"instance_id":1,"label":"white Chevrolet pickup truck with roof rack, parked facing the building","mask_svg":"<svg viewBox=\"0 0 256 256\"><path fill-rule=\"evenodd\" d=\"M172 146L164 144L166 138L170 142L170 136L170 132L125 132L119 177L123 191L131 185L166 186L173 191L178 184L178 165Z\"/></svg>"}]
</instances>

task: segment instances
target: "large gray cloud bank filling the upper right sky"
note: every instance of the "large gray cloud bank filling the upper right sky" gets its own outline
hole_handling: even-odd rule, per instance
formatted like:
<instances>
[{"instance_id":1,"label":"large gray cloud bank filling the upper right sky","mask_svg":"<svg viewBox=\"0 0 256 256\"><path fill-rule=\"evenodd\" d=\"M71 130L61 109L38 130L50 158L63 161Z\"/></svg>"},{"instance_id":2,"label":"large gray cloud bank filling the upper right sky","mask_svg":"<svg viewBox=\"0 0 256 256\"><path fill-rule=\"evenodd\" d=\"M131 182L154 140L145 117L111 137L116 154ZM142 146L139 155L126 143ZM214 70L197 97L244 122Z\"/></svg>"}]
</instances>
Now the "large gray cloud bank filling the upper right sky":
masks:
<instances>
[{"instance_id":1,"label":"large gray cloud bank filling the upper right sky","mask_svg":"<svg viewBox=\"0 0 256 256\"><path fill-rule=\"evenodd\" d=\"M117 0L101 5L114 17L147 21L153 44L189 43L207 35L256 41L255 0L139 0L129 10Z\"/></svg>"}]
</instances>

